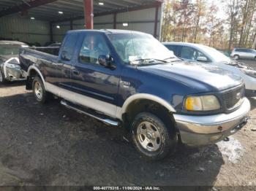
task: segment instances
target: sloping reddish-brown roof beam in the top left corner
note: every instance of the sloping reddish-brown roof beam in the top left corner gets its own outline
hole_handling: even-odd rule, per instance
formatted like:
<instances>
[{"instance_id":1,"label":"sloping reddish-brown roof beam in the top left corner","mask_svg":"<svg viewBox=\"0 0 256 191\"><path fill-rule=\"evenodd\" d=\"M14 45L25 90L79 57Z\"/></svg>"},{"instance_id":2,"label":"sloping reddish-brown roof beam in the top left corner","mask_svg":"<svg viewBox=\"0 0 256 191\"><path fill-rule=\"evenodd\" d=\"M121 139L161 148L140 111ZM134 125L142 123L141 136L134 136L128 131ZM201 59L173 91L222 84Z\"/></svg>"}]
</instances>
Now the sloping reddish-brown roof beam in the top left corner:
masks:
<instances>
[{"instance_id":1,"label":"sloping reddish-brown roof beam in the top left corner","mask_svg":"<svg viewBox=\"0 0 256 191\"><path fill-rule=\"evenodd\" d=\"M0 12L0 17L4 17L5 15L11 15L13 13L21 12L21 11L31 9L31 8L34 8L34 7L39 7L43 4L49 4L53 1L57 1L57 0L34 0L34 1L29 1L28 2L29 4L23 3L23 4L20 4L18 6L14 6L14 7L10 7L8 9L2 10Z\"/></svg>"}]
</instances>

